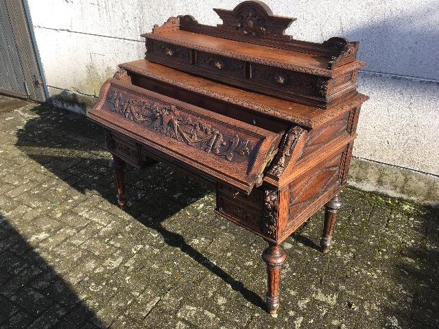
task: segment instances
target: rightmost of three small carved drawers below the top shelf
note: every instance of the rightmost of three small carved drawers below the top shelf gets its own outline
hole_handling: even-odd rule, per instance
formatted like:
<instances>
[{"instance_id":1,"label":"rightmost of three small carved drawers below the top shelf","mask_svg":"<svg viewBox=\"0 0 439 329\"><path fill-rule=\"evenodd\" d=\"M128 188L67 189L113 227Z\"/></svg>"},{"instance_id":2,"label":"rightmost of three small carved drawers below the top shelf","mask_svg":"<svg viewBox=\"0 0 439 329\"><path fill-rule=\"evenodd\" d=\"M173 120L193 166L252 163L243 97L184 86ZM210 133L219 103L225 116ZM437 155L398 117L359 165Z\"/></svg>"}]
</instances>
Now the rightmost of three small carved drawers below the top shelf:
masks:
<instances>
[{"instance_id":1,"label":"rightmost of three small carved drawers below the top shelf","mask_svg":"<svg viewBox=\"0 0 439 329\"><path fill-rule=\"evenodd\" d=\"M251 80L262 86L271 86L287 93L317 94L317 77L261 64L251 64Z\"/></svg>"}]
</instances>

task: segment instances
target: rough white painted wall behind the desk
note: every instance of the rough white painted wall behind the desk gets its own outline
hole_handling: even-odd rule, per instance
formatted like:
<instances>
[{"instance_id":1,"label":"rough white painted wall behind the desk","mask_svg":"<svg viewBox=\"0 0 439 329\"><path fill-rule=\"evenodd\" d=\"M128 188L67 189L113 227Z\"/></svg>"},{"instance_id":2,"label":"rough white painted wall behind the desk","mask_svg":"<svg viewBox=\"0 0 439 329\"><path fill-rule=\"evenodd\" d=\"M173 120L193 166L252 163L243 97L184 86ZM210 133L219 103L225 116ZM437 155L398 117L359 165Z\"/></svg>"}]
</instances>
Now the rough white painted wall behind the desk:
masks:
<instances>
[{"instance_id":1,"label":"rough white painted wall behind the desk","mask_svg":"<svg viewBox=\"0 0 439 329\"><path fill-rule=\"evenodd\" d=\"M221 23L211 8L240 1L28 0L51 93L97 95L118 63L143 57L139 36L169 16ZM354 155L439 175L439 10L435 0L266 0L298 21L287 32L322 42L360 41L368 63L359 90L370 96ZM381 74L383 73L383 74Z\"/></svg>"}]
</instances>

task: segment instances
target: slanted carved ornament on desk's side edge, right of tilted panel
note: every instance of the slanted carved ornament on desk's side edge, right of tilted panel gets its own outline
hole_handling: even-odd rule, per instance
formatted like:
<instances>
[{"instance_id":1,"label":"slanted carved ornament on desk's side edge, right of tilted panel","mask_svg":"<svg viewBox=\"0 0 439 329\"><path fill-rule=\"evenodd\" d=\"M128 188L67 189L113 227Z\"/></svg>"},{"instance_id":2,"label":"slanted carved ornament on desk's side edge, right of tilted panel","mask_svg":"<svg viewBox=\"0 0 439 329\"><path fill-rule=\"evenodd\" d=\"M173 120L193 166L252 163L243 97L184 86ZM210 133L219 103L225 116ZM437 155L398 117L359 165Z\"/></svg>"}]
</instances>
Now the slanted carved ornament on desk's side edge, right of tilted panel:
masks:
<instances>
[{"instance_id":1,"label":"slanted carved ornament on desk's side edge, right of tilted panel","mask_svg":"<svg viewBox=\"0 0 439 329\"><path fill-rule=\"evenodd\" d=\"M281 151L276 154L276 158L274 159L272 167L268 173L275 175L276 177L281 177L303 132L305 132L305 130L299 126L292 127L288 130L284 136Z\"/></svg>"}]
</instances>

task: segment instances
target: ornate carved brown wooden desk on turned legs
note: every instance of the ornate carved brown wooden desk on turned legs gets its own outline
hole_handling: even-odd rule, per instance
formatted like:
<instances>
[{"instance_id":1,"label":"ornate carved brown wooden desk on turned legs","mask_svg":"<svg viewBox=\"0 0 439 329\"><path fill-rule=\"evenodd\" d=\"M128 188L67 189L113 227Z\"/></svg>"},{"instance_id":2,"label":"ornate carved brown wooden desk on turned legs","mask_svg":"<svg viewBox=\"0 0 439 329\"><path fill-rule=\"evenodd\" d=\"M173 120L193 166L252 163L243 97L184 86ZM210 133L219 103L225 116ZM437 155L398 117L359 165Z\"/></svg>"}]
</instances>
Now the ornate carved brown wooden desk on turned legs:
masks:
<instances>
[{"instance_id":1,"label":"ornate carved brown wooden desk on turned legs","mask_svg":"<svg viewBox=\"0 0 439 329\"><path fill-rule=\"evenodd\" d=\"M281 244L326 204L331 247L361 103L358 42L284 34L294 19L259 1L215 9L223 21L171 17L146 38L145 59L121 64L88 117L106 128L117 202L125 162L167 162L216 189L216 212L268 242L266 306L278 310Z\"/></svg>"}]
</instances>

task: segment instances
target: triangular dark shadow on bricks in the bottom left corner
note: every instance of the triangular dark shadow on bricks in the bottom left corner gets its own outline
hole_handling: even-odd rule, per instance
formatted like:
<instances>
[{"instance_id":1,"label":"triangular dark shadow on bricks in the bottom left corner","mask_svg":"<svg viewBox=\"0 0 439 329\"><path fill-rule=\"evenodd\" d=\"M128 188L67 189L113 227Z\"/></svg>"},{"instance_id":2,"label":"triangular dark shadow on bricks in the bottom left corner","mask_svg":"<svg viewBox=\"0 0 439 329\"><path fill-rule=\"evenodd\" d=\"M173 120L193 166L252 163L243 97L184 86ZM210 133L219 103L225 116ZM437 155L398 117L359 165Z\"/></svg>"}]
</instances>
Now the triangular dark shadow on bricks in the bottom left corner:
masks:
<instances>
[{"instance_id":1,"label":"triangular dark shadow on bricks in the bottom left corner","mask_svg":"<svg viewBox=\"0 0 439 329\"><path fill-rule=\"evenodd\" d=\"M47 258L0 215L0 328L106 328Z\"/></svg>"}]
</instances>

